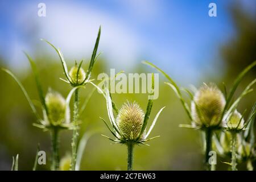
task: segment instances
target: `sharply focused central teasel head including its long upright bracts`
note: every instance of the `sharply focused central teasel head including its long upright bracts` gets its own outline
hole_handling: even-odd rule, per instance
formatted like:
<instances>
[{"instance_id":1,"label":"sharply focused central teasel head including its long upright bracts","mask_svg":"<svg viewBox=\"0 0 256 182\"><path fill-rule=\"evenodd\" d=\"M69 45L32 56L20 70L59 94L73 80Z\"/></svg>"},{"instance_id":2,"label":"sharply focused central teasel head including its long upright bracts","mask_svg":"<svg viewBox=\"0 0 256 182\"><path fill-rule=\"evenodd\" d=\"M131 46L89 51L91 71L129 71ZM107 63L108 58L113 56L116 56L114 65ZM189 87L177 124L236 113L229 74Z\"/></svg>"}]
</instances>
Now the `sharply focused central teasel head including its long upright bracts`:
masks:
<instances>
[{"instance_id":1,"label":"sharply focused central teasel head including its long upright bracts","mask_svg":"<svg viewBox=\"0 0 256 182\"><path fill-rule=\"evenodd\" d=\"M148 139L148 135L154 128L155 123L158 120L158 117L162 110L164 109L164 107L158 111L155 119L152 121L150 128L147 130L147 122L151 113L153 101L150 99L148 100L147 110L145 113L137 104L137 102L127 101L125 104L122 105L121 109L118 110L117 106L114 104L114 101L112 100L111 94L109 92L109 86L106 85L108 84L106 84L105 82L104 91L100 88L98 89L101 90L101 93L104 94L104 97L106 98L108 116L112 126L109 126L104 119L101 119L102 121L104 121L105 125L108 127L108 129L115 138L112 139L106 137L105 135L102 136L112 140L114 143L126 144L145 144L145 142L147 142L148 140L156 138L153 137ZM154 90L154 74L152 74L152 90ZM117 117L114 116L115 114L117 115Z\"/></svg>"}]
</instances>

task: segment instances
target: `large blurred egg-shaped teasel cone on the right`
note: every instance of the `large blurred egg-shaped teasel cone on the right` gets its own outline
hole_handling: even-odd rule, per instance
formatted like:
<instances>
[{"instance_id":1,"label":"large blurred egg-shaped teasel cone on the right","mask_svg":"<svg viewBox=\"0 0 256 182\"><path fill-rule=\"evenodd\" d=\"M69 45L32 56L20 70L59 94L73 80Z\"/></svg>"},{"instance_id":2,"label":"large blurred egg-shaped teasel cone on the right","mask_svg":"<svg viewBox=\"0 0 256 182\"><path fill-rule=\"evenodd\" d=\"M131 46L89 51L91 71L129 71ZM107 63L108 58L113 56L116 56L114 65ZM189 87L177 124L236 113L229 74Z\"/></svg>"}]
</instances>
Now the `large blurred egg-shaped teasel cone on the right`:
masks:
<instances>
[{"instance_id":1,"label":"large blurred egg-shaped teasel cone on the right","mask_svg":"<svg viewBox=\"0 0 256 182\"><path fill-rule=\"evenodd\" d=\"M192 119L197 125L206 127L220 124L222 112L226 101L225 97L216 85L204 85L197 90L192 104Z\"/></svg>"}]
</instances>

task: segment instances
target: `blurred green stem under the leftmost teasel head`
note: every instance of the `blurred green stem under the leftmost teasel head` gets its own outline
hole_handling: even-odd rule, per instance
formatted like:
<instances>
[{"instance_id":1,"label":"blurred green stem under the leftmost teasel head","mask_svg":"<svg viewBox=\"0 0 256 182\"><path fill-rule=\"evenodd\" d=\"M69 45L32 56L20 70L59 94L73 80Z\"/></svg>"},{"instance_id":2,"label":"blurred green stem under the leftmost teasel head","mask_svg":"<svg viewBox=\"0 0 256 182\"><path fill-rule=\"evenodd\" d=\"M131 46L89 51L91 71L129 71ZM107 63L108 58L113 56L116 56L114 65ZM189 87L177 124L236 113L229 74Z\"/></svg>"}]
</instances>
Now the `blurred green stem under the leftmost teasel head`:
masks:
<instances>
[{"instance_id":1,"label":"blurred green stem under the leftmost teasel head","mask_svg":"<svg viewBox=\"0 0 256 182\"><path fill-rule=\"evenodd\" d=\"M53 127L51 130L51 140L52 140L52 171L59 169L59 130Z\"/></svg>"}]
</instances>

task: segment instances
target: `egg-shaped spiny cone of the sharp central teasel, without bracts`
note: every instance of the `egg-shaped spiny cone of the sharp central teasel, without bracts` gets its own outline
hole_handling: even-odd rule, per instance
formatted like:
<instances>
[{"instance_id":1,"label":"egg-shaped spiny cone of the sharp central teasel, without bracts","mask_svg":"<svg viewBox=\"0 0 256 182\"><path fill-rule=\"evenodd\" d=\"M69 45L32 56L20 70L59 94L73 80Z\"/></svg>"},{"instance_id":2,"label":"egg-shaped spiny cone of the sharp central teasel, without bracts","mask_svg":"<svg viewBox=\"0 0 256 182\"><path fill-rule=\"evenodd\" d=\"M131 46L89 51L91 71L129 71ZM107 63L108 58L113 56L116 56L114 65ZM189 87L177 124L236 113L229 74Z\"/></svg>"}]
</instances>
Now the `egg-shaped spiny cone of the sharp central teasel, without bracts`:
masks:
<instances>
[{"instance_id":1,"label":"egg-shaped spiny cone of the sharp central teasel, without bracts","mask_svg":"<svg viewBox=\"0 0 256 182\"><path fill-rule=\"evenodd\" d=\"M116 121L125 139L137 139L143 125L144 112L136 102L126 102L119 110Z\"/></svg>"}]
</instances>

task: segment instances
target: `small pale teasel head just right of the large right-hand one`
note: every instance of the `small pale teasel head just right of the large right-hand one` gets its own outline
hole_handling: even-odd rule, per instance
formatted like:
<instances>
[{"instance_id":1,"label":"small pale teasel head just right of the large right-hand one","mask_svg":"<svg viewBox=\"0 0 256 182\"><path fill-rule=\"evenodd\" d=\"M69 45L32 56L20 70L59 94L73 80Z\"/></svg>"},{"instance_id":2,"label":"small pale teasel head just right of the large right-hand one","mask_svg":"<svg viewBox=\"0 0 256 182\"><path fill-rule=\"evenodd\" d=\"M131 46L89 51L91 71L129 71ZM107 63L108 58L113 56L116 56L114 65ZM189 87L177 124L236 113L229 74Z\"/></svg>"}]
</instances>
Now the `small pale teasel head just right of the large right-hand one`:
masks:
<instances>
[{"instance_id":1,"label":"small pale teasel head just right of the large right-hand one","mask_svg":"<svg viewBox=\"0 0 256 182\"><path fill-rule=\"evenodd\" d=\"M242 130L245 124L245 119L235 110L233 113L224 116L224 126L230 130Z\"/></svg>"}]
</instances>

